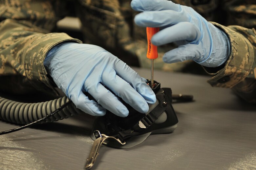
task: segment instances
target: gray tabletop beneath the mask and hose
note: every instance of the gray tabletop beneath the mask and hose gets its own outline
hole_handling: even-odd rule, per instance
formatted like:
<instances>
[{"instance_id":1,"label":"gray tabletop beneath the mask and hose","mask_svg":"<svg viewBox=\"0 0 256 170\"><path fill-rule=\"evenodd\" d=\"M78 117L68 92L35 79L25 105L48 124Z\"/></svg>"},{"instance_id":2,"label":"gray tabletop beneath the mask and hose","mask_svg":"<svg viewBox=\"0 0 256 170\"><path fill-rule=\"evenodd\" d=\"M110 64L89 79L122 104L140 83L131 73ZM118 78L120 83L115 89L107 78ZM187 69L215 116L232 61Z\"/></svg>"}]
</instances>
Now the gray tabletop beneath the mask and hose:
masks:
<instances>
[{"instance_id":1,"label":"gray tabletop beneath the mask and hose","mask_svg":"<svg viewBox=\"0 0 256 170\"><path fill-rule=\"evenodd\" d=\"M150 70L134 68L149 78ZM173 104L179 123L171 134L150 135L130 149L100 148L93 169L256 169L256 106L207 76L155 71L173 93L192 103ZM78 115L0 136L0 169L83 169L94 117ZM0 131L17 125L0 121Z\"/></svg>"}]
</instances>

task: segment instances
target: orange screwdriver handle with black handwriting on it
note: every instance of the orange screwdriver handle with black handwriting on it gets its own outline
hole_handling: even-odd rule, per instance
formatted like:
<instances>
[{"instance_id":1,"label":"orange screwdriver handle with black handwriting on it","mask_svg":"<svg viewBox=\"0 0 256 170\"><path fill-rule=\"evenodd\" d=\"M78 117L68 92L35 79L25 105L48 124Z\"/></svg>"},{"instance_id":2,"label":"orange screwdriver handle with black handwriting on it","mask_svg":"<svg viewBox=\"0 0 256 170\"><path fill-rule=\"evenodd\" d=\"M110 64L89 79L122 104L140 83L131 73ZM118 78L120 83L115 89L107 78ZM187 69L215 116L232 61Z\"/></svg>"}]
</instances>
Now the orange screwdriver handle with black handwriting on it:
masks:
<instances>
[{"instance_id":1,"label":"orange screwdriver handle with black handwriting on it","mask_svg":"<svg viewBox=\"0 0 256 170\"><path fill-rule=\"evenodd\" d=\"M158 58L157 46L151 43L152 36L158 31L159 31L159 27L157 28L147 27L147 39L148 39L147 58L149 59Z\"/></svg>"}]
</instances>

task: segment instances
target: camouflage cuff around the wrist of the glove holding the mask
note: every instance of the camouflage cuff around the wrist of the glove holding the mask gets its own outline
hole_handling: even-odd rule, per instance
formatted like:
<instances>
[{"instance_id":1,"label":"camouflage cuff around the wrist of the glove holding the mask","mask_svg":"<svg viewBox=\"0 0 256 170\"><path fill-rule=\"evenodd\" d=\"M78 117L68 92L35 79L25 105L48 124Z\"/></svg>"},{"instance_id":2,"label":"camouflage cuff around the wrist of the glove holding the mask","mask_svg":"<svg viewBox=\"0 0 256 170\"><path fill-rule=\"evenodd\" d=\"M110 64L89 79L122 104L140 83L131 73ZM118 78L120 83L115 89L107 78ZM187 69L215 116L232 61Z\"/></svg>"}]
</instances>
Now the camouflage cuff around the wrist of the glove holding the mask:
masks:
<instances>
[{"instance_id":1,"label":"camouflage cuff around the wrist of the glove holding the mask","mask_svg":"<svg viewBox=\"0 0 256 170\"><path fill-rule=\"evenodd\" d=\"M58 94L47 77L44 67L44 58L47 52L54 46L63 42L82 43L78 39L68 36L66 33L49 33L33 41L25 52L24 68L26 77L30 83L39 91Z\"/></svg>"}]
</instances>

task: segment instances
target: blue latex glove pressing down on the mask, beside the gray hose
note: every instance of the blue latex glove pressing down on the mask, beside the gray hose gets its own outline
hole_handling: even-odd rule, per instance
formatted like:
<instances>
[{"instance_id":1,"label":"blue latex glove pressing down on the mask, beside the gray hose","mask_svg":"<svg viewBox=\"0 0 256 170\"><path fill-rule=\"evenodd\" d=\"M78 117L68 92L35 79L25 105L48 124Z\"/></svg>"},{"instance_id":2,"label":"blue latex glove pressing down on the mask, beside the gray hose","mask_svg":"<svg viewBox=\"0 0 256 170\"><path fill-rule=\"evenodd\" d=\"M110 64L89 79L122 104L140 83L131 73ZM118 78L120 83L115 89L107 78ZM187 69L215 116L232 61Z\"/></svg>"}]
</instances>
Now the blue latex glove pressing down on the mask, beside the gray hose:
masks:
<instances>
[{"instance_id":1,"label":"blue latex glove pressing down on the mask, beside the gray hose","mask_svg":"<svg viewBox=\"0 0 256 170\"><path fill-rule=\"evenodd\" d=\"M129 111L117 96L141 113L148 111L147 103L156 102L154 92L137 72L95 45L61 44L48 52L44 66L76 107L90 115L105 115L107 109L126 117ZM97 102L83 92L90 93Z\"/></svg>"}]
</instances>

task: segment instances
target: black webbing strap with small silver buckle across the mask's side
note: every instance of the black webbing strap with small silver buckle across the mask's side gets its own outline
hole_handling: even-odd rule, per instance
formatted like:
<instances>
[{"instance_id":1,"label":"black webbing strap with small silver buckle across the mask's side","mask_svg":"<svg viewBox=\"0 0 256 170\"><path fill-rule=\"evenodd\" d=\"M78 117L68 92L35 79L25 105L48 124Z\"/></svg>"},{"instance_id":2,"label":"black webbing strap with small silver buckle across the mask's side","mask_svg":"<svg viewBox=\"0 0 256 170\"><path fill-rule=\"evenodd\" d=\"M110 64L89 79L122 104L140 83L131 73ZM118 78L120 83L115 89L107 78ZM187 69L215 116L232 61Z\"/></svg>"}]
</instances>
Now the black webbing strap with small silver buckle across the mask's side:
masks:
<instances>
[{"instance_id":1,"label":"black webbing strap with small silver buckle across the mask's side","mask_svg":"<svg viewBox=\"0 0 256 170\"><path fill-rule=\"evenodd\" d=\"M166 110L167 106L168 103L165 101L165 99L162 100L150 113L148 113L132 128L118 132L118 134L114 137L124 141L127 138L139 135L159 118L159 116Z\"/></svg>"}]
</instances>

